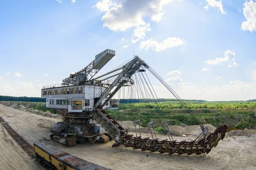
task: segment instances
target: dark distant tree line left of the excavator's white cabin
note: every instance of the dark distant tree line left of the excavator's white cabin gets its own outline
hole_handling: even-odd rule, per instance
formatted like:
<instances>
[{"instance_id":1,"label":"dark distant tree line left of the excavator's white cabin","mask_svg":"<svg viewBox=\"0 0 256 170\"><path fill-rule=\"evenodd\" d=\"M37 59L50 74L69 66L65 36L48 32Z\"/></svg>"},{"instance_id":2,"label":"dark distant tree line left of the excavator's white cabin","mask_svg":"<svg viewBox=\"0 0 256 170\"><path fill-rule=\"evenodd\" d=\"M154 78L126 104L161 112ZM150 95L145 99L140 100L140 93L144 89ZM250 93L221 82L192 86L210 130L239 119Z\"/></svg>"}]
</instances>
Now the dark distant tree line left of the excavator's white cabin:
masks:
<instances>
[{"instance_id":1,"label":"dark distant tree line left of the excavator's white cabin","mask_svg":"<svg viewBox=\"0 0 256 170\"><path fill-rule=\"evenodd\" d=\"M0 101L13 101L13 102L46 102L46 99L41 99L41 97L14 97L14 96L0 96Z\"/></svg>"}]
</instances>

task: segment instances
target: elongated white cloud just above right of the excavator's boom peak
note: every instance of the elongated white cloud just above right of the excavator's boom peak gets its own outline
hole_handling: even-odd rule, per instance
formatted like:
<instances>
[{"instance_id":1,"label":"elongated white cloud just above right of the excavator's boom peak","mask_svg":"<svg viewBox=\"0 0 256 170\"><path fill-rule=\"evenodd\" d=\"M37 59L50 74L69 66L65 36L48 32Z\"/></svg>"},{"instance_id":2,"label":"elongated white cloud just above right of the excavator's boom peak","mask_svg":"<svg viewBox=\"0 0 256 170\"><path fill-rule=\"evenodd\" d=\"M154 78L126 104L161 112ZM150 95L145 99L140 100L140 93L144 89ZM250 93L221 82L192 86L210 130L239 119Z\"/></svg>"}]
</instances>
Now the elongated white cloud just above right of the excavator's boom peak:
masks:
<instances>
[{"instance_id":1,"label":"elongated white cloud just above right of the excavator's boom peak","mask_svg":"<svg viewBox=\"0 0 256 170\"><path fill-rule=\"evenodd\" d=\"M159 51L166 50L167 48L182 45L184 43L185 42L183 42L180 38L176 38L176 37L169 37L160 43L151 38L149 40L140 42L140 48L141 49L145 48L145 50L147 50L148 48L151 48L152 50L159 52Z\"/></svg>"}]
</instances>

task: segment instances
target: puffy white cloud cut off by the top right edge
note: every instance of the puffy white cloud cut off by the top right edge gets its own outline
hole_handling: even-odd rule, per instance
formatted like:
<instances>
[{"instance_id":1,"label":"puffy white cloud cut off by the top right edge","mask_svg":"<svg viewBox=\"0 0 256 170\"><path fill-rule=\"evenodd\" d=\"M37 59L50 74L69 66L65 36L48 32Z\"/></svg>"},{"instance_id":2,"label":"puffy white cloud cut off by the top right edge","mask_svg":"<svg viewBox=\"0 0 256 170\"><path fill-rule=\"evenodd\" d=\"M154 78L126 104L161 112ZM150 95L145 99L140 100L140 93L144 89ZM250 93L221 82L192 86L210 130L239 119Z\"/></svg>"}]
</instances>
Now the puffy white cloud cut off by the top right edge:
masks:
<instances>
[{"instance_id":1,"label":"puffy white cloud cut off by the top right edge","mask_svg":"<svg viewBox=\"0 0 256 170\"><path fill-rule=\"evenodd\" d=\"M244 21L241 25L243 31L256 31L256 2L250 0L244 3L244 17L247 21Z\"/></svg>"}]
</instances>

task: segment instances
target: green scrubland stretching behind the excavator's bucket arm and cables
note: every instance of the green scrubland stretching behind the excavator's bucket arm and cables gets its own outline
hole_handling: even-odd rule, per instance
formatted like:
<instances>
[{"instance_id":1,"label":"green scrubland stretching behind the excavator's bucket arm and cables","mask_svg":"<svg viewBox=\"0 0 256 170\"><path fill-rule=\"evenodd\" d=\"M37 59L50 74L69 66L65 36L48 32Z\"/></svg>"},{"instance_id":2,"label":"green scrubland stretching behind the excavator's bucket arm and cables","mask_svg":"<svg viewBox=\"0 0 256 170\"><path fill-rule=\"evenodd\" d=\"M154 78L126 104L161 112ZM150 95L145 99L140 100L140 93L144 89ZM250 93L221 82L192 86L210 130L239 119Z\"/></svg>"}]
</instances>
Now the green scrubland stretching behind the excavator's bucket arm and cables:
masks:
<instances>
[{"instance_id":1,"label":"green scrubland stretching behind the excavator's bucket arm and cables","mask_svg":"<svg viewBox=\"0 0 256 170\"><path fill-rule=\"evenodd\" d=\"M196 115L200 122L221 126L226 123L234 127L256 127L256 102L229 101L229 102L198 102L187 101L187 107ZM121 103L120 111L108 110L107 112L119 121L142 121L142 126L154 121L161 127L169 125L198 125L186 109L179 102L147 102L147 103ZM157 129L161 133L163 129ZM164 131L162 131L164 133Z\"/></svg>"}]
</instances>

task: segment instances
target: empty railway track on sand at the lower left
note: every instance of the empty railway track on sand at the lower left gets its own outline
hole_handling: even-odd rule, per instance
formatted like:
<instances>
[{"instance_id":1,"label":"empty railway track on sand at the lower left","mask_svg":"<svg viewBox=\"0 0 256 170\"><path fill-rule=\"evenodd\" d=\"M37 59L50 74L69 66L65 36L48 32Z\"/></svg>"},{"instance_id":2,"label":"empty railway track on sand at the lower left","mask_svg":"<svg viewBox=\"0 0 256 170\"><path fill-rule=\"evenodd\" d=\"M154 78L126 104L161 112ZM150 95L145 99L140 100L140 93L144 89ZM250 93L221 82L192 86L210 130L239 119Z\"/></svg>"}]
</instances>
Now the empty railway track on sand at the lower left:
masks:
<instances>
[{"instance_id":1,"label":"empty railway track on sand at the lower left","mask_svg":"<svg viewBox=\"0 0 256 170\"><path fill-rule=\"evenodd\" d=\"M26 142L22 136L20 136L12 127L9 126L7 122L0 116L0 122L2 123L3 127L6 128L8 133L12 136L12 138L20 145L20 147L32 158L35 157L35 150L28 142Z\"/></svg>"}]
</instances>

